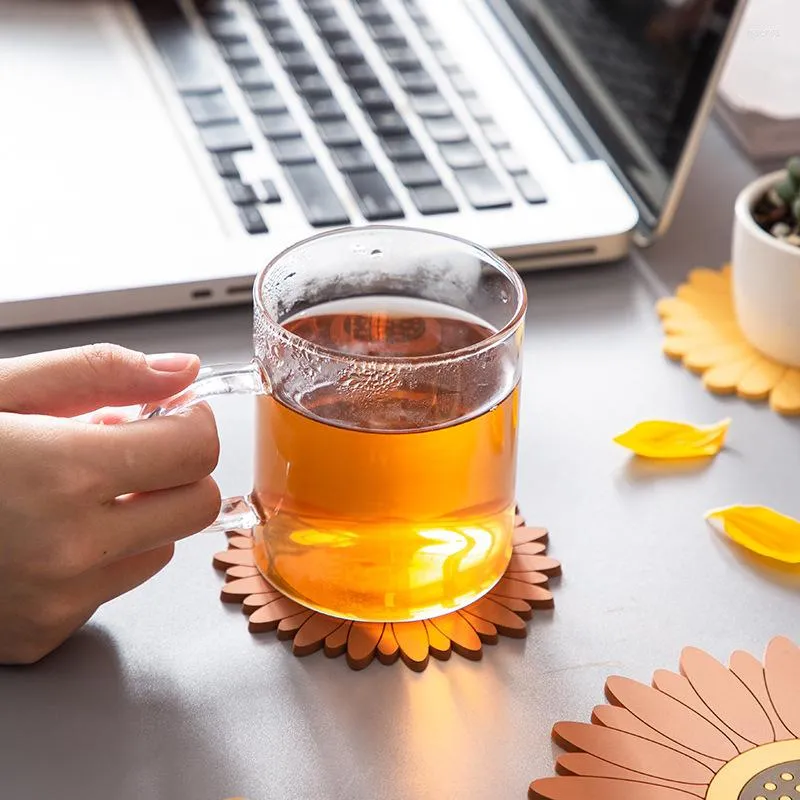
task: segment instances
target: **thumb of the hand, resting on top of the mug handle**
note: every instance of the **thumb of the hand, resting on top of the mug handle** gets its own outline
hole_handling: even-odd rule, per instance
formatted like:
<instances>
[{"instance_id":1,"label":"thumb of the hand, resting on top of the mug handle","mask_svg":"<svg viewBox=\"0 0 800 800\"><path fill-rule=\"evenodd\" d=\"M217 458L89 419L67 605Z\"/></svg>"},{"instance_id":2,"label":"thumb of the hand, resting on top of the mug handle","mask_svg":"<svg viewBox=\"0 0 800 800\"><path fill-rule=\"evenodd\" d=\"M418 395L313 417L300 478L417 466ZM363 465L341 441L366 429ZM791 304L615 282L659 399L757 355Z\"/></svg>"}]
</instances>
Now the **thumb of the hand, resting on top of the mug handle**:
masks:
<instances>
[{"instance_id":1,"label":"thumb of the hand, resting on top of the mug handle","mask_svg":"<svg viewBox=\"0 0 800 800\"><path fill-rule=\"evenodd\" d=\"M150 403L188 386L199 369L195 355L145 355L111 344L0 359L0 411L72 417Z\"/></svg>"}]
</instances>

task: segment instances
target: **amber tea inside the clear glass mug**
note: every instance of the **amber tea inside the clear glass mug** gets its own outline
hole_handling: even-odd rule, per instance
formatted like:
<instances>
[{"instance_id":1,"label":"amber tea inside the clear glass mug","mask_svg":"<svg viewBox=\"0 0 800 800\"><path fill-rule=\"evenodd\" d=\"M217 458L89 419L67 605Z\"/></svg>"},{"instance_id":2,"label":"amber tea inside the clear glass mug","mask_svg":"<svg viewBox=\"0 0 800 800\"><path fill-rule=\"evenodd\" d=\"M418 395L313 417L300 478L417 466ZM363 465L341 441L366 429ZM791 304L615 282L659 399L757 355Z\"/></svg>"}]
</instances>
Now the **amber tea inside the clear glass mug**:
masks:
<instances>
[{"instance_id":1,"label":"amber tea inside the clear glass mug","mask_svg":"<svg viewBox=\"0 0 800 800\"><path fill-rule=\"evenodd\" d=\"M450 306L395 297L325 303L283 327L389 359L494 333ZM492 588L511 555L518 388L513 368L485 369L476 361L458 392L356 382L344 398L325 385L258 398L256 554L278 589L324 612L397 621L461 608Z\"/></svg>"}]
</instances>

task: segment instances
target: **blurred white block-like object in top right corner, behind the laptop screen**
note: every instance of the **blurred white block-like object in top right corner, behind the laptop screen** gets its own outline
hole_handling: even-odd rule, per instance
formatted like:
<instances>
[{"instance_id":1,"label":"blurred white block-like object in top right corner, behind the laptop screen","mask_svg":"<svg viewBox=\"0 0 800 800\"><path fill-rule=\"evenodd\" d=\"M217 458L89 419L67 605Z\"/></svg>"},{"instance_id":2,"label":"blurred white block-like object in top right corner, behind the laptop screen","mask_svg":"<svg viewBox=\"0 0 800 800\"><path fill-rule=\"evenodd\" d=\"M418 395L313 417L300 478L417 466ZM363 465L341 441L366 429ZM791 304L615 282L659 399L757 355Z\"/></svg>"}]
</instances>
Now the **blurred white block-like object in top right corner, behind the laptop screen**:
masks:
<instances>
[{"instance_id":1,"label":"blurred white block-like object in top right corner, behind the laptop screen","mask_svg":"<svg viewBox=\"0 0 800 800\"><path fill-rule=\"evenodd\" d=\"M751 158L800 154L800 0L750 0L717 112Z\"/></svg>"}]
</instances>

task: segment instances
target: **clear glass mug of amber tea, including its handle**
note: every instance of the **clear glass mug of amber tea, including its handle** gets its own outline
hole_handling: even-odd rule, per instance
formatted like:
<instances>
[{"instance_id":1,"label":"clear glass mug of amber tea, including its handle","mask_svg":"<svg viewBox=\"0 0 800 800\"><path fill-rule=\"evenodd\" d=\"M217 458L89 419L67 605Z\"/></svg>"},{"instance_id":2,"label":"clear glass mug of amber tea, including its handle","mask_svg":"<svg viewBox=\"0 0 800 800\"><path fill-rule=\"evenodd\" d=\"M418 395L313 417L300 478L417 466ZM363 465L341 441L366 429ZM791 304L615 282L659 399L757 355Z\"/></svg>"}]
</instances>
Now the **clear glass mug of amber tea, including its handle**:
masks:
<instances>
[{"instance_id":1,"label":"clear glass mug of amber tea, including its handle","mask_svg":"<svg viewBox=\"0 0 800 800\"><path fill-rule=\"evenodd\" d=\"M477 245L345 228L254 286L255 359L201 370L157 416L257 395L255 486L209 530L252 528L260 572L347 619L425 619L511 557L525 288Z\"/></svg>"}]
</instances>

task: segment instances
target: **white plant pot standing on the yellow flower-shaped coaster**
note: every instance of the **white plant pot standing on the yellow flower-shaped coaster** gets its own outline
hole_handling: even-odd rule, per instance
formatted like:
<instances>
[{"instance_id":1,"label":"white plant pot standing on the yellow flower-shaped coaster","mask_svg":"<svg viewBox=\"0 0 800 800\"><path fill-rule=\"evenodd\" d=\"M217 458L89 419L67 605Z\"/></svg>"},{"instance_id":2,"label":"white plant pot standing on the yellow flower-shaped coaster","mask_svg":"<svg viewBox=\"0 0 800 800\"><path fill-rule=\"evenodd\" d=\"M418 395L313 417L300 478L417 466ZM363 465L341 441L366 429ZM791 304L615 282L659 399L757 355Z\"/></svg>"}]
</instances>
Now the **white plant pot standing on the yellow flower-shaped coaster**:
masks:
<instances>
[{"instance_id":1,"label":"white plant pot standing on the yellow flower-shaped coaster","mask_svg":"<svg viewBox=\"0 0 800 800\"><path fill-rule=\"evenodd\" d=\"M733 225L733 299L742 332L764 355L800 367L800 247L762 230L753 206L786 176L773 172L736 199Z\"/></svg>"}]
</instances>

